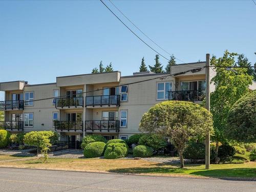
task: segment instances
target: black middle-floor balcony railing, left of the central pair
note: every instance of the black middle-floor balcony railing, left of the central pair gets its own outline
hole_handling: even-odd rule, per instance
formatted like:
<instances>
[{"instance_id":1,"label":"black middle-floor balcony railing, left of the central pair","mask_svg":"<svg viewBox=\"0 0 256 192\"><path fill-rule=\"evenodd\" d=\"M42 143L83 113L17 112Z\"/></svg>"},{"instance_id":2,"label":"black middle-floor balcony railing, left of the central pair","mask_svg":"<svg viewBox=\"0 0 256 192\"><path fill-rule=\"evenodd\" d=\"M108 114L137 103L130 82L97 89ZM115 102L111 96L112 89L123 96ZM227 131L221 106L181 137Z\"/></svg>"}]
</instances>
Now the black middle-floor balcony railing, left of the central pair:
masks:
<instances>
[{"instance_id":1,"label":"black middle-floor balcony railing, left of the central pair","mask_svg":"<svg viewBox=\"0 0 256 192\"><path fill-rule=\"evenodd\" d=\"M55 131L83 131L82 121L54 121Z\"/></svg>"}]
</instances>

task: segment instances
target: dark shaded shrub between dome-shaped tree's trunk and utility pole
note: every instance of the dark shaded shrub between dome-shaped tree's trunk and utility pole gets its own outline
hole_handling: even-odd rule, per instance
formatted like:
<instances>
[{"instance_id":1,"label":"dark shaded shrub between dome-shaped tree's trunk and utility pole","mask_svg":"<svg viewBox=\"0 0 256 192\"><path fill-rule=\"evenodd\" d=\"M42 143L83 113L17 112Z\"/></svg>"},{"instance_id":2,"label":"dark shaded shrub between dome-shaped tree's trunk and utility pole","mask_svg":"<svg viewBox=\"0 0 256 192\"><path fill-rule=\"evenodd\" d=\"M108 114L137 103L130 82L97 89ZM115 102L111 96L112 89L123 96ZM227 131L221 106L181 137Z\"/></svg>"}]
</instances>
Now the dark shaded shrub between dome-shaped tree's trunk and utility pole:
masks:
<instances>
[{"instance_id":1,"label":"dark shaded shrub between dome-shaped tree's trunk and utility pole","mask_svg":"<svg viewBox=\"0 0 256 192\"><path fill-rule=\"evenodd\" d=\"M186 145L183 152L185 159L190 159L192 162L196 162L198 159L205 159L205 144L190 142Z\"/></svg>"}]
</instances>

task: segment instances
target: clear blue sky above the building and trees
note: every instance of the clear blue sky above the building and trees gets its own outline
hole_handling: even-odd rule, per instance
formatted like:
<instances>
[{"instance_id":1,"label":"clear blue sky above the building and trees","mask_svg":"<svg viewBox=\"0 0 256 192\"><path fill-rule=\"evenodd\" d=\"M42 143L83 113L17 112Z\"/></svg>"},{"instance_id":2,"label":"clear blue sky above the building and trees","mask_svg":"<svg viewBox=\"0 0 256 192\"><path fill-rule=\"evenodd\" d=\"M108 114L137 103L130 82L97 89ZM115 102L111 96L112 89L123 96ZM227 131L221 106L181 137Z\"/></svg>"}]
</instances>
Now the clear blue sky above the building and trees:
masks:
<instances>
[{"instance_id":1,"label":"clear blue sky above the building and trees","mask_svg":"<svg viewBox=\"0 0 256 192\"><path fill-rule=\"evenodd\" d=\"M105 3L118 14L110 2ZM185 62L204 61L205 53L219 57L226 49L256 62L252 1L114 3L144 33ZM100 60L104 65L112 62L122 75L138 71L143 56L147 65L154 64L156 53L100 1L0 1L0 15L0 82L55 82L56 76L91 73Z\"/></svg>"}]
</instances>

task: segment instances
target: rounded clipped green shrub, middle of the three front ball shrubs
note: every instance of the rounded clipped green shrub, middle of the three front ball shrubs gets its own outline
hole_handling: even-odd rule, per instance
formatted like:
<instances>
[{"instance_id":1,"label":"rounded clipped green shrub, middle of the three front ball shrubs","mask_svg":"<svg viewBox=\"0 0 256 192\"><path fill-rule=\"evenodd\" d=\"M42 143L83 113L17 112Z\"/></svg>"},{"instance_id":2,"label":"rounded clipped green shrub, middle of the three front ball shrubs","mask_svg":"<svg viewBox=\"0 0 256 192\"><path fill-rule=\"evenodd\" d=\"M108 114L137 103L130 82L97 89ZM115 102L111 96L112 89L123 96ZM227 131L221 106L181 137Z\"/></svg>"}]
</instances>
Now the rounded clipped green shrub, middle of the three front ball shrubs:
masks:
<instances>
[{"instance_id":1,"label":"rounded clipped green shrub, middle of the three front ball shrubs","mask_svg":"<svg viewBox=\"0 0 256 192\"><path fill-rule=\"evenodd\" d=\"M126 143L109 143L106 145L104 158L118 159L125 157L128 153Z\"/></svg>"}]
</instances>

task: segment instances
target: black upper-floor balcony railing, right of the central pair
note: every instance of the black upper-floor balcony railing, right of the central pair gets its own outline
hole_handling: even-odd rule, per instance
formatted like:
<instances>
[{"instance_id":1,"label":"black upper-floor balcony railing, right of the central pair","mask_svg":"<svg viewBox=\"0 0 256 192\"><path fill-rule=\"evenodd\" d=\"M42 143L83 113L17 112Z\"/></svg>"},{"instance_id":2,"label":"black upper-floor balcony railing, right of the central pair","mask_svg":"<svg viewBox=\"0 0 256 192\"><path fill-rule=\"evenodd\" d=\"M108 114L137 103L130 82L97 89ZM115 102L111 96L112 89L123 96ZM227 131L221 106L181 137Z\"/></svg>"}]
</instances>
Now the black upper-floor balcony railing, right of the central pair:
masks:
<instances>
[{"instance_id":1,"label":"black upper-floor balcony railing, right of the central pair","mask_svg":"<svg viewBox=\"0 0 256 192\"><path fill-rule=\"evenodd\" d=\"M86 106L95 106L95 105L120 106L120 95L87 96L86 97Z\"/></svg>"}]
</instances>

